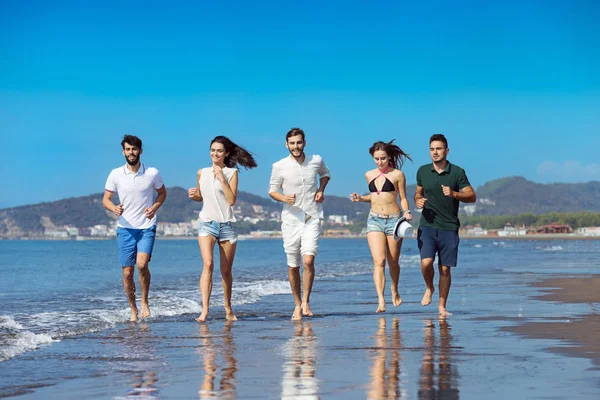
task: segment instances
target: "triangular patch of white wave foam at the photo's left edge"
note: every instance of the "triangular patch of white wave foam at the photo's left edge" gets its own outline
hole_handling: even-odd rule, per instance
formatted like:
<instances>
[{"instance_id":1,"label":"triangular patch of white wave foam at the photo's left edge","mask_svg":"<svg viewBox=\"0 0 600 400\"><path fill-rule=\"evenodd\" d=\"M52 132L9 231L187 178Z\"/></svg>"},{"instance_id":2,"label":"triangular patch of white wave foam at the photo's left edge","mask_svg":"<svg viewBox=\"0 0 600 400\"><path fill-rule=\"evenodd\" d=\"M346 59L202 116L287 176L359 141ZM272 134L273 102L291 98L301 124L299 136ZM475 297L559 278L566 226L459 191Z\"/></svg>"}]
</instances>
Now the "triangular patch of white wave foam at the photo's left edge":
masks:
<instances>
[{"instance_id":1,"label":"triangular patch of white wave foam at the photo's left edge","mask_svg":"<svg viewBox=\"0 0 600 400\"><path fill-rule=\"evenodd\" d=\"M37 349L40 345L55 342L48 334L29 332L7 315L0 316L0 361L9 360L21 353Z\"/></svg>"}]
</instances>

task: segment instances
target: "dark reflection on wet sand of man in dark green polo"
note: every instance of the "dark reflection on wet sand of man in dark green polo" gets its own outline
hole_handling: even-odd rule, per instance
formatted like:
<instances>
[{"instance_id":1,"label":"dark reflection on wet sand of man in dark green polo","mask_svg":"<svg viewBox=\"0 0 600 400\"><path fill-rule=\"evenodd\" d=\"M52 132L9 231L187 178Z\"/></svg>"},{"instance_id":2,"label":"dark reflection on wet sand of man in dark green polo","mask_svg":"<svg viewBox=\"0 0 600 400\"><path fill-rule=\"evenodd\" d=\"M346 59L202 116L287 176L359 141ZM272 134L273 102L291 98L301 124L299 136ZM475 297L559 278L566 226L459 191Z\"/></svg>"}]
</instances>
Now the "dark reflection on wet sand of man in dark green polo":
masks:
<instances>
[{"instance_id":1,"label":"dark reflection on wet sand of man in dark green polo","mask_svg":"<svg viewBox=\"0 0 600 400\"><path fill-rule=\"evenodd\" d=\"M451 328L446 319L439 319L438 323L440 338L439 346L436 347L435 324L432 319L425 320L419 399L458 399L458 371L457 367L452 365ZM438 356L437 371L435 369L436 353Z\"/></svg>"}]
</instances>

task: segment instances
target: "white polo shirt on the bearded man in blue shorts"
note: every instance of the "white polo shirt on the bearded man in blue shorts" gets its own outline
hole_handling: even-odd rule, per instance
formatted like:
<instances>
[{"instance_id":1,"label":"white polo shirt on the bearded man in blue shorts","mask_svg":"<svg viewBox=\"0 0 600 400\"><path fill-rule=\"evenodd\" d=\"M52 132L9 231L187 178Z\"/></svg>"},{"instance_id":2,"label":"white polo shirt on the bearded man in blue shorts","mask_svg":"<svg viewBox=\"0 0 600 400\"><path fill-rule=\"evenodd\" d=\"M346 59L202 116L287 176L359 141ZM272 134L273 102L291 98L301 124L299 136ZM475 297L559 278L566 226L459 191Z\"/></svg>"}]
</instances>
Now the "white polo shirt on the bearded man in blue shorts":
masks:
<instances>
[{"instance_id":1,"label":"white polo shirt on the bearded man in blue shorts","mask_svg":"<svg viewBox=\"0 0 600 400\"><path fill-rule=\"evenodd\" d=\"M154 192L164 186L156 168L140 165L137 173L127 168L127 164L113 169L106 180L105 189L117 193L123 204L123 214L117 226L128 229L147 229L156 225L156 214L146 218L144 210L154 204Z\"/></svg>"}]
</instances>

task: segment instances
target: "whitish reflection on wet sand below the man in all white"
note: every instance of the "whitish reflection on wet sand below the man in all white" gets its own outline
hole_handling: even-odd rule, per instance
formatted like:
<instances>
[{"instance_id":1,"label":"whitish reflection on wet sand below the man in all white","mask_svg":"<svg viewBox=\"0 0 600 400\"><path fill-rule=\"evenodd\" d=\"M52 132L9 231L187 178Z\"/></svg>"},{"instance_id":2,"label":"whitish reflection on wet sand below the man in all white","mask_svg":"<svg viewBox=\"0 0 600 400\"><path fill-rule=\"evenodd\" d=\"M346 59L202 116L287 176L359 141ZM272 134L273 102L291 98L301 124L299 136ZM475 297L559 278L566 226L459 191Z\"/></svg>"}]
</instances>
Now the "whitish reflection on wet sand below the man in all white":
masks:
<instances>
[{"instance_id":1,"label":"whitish reflection on wet sand below the man in all white","mask_svg":"<svg viewBox=\"0 0 600 400\"><path fill-rule=\"evenodd\" d=\"M316 349L317 336L313 333L312 322L297 323L294 336L283 351L282 399L319 398L319 380L315 378Z\"/></svg>"}]
</instances>

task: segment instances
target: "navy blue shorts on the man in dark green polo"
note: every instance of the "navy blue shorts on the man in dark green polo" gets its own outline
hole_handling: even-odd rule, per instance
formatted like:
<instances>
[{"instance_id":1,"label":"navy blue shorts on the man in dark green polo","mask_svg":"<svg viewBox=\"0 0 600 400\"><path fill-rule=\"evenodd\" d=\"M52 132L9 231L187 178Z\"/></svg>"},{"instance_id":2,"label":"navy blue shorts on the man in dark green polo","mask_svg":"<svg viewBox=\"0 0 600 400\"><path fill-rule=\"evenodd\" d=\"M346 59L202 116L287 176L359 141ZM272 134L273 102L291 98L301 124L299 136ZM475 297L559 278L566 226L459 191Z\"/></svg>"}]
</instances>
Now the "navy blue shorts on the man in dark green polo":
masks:
<instances>
[{"instance_id":1,"label":"navy blue shorts on the man in dark green polo","mask_svg":"<svg viewBox=\"0 0 600 400\"><path fill-rule=\"evenodd\" d=\"M445 267L456 267L459 242L458 231L443 231L420 226L417 234L421 260L435 258L437 254L438 264Z\"/></svg>"}]
</instances>

